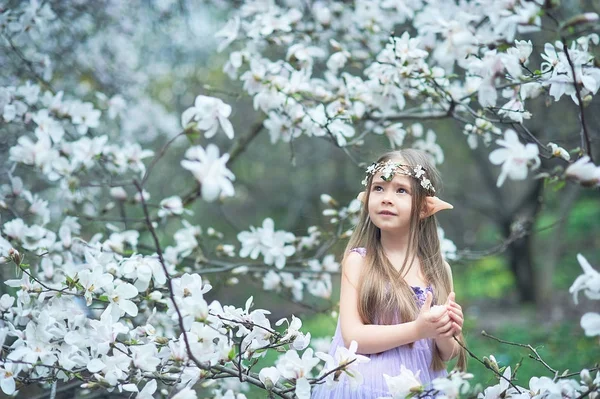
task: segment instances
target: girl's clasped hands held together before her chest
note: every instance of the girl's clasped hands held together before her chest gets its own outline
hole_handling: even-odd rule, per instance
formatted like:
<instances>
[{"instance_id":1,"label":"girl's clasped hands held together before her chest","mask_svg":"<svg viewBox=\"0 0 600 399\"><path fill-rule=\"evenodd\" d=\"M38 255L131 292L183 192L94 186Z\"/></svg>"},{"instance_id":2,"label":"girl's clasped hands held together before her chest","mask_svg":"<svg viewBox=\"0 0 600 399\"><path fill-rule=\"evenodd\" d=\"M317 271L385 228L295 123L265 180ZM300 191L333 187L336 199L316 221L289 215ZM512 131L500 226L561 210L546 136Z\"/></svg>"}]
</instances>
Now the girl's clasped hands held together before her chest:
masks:
<instances>
[{"instance_id":1,"label":"girl's clasped hands held together before her chest","mask_svg":"<svg viewBox=\"0 0 600 399\"><path fill-rule=\"evenodd\" d=\"M423 338L449 338L459 334L463 326L461 306L455 302L455 294L451 292L444 305L431 306L433 295L427 292L425 303L421 307L416 325Z\"/></svg>"}]
</instances>

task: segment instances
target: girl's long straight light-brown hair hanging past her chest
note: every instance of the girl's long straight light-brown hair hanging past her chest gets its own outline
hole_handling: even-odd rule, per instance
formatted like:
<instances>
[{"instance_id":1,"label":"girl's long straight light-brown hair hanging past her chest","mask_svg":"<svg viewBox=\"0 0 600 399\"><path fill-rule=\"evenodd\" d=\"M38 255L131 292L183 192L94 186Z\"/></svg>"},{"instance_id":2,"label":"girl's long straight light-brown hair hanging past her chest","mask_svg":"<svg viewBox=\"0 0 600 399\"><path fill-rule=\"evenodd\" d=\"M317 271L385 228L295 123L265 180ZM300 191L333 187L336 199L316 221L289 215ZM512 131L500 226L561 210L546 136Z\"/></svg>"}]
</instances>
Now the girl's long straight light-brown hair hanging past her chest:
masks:
<instances>
[{"instance_id":1,"label":"girl's long straight light-brown hair hanging past her chest","mask_svg":"<svg viewBox=\"0 0 600 399\"><path fill-rule=\"evenodd\" d=\"M401 161L403 164L425 168L427 178L436 189L440 188L440 175L438 170L423 151L403 149L382 155L377 162L388 160ZM346 247L345 256L352 248L365 248L365 267L361 273L359 287L358 311L364 323L367 324L394 324L399 321L415 320L419 314L419 307L415 301L415 293L404 280L415 257L421 262L421 271L426 282L433 288L433 304L444 304L451 290L451 276L442 258L440 241L437 232L435 215L421 218L420 213L425 204L427 191L421 187L417 179L410 179L412 193L412 208L410 214L410 235L408 250L400 270L396 270L384 253L381 245L381 232L369 218L369 195L373 181L371 175L367 179L367 189L363 199L363 207L359 222L350 237ZM409 259L410 257L410 259ZM399 315L398 315L399 313ZM464 342L462 334L457 337ZM412 345L412 344L411 344ZM466 368L465 351L461 349L457 367ZM437 347L434 350L431 367L442 370L445 364Z\"/></svg>"}]
</instances>

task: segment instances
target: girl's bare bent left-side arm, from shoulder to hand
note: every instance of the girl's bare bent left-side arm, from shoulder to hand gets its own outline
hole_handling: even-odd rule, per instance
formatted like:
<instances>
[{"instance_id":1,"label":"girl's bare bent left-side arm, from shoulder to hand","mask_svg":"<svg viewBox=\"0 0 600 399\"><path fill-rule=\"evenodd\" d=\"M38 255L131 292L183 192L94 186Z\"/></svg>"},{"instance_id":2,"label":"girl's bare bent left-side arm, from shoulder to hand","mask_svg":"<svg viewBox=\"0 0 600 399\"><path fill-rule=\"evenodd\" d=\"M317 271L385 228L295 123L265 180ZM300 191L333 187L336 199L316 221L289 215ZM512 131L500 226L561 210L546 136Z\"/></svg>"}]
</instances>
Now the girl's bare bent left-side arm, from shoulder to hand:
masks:
<instances>
[{"instance_id":1,"label":"girl's bare bent left-side arm, from shoulder to hand","mask_svg":"<svg viewBox=\"0 0 600 399\"><path fill-rule=\"evenodd\" d=\"M342 264L340 327L346 348L356 341L358 353L380 353L422 338L433 338L440 333L439 328L447 325L448 312L437 315L422 312L415 321L402 324L364 324L358 312L358 287L363 263L363 257L353 252ZM428 301L431 304L431 294Z\"/></svg>"}]
</instances>

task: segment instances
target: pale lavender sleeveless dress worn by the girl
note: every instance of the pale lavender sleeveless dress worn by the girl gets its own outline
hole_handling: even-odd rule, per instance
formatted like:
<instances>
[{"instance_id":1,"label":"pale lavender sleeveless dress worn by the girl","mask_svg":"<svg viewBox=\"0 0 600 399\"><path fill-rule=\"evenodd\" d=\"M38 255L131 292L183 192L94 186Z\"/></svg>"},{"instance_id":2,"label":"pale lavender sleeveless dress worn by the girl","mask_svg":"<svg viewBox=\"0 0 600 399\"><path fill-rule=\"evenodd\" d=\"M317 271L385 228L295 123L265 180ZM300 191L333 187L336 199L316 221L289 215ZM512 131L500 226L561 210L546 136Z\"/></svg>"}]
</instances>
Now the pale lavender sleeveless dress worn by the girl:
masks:
<instances>
[{"instance_id":1,"label":"pale lavender sleeveless dress worn by the girl","mask_svg":"<svg viewBox=\"0 0 600 399\"><path fill-rule=\"evenodd\" d=\"M358 252L362 256L366 254L365 248L354 248L351 251ZM426 291L432 291L431 287L427 287L425 290L420 287L412 287L412 289L415 291L420 305L425 302ZM416 341L412 348L402 345L385 352L366 355L371 361L355 366L364 378L363 384L359 385L356 390L352 390L347 376L344 376L332 390L324 384L316 386L313 389L312 399L377 399L391 396L383 374L395 377L400 374L401 365L415 374L420 370L419 379L427 388L432 380L448 374L446 370L433 371L431 369L433 345L433 339L421 339ZM344 340L338 319L329 354L333 356L339 346L344 346Z\"/></svg>"}]
</instances>

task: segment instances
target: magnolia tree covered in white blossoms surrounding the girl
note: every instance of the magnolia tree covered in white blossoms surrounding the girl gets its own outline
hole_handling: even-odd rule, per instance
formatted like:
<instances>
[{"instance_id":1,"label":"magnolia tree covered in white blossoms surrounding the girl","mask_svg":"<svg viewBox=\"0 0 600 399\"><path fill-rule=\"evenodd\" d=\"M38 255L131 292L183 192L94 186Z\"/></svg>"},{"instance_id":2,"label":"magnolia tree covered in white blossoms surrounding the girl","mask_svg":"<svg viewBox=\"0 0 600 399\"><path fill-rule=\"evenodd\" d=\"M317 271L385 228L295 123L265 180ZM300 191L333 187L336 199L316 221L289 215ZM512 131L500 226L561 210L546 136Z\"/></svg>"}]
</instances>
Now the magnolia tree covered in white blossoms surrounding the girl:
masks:
<instances>
[{"instance_id":1,"label":"magnolia tree covered in white blossoms surrounding the girl","mask_svg":"<svg viewBox=\"0 0 600 399\"><path fill-rule=\"evenodd\" d=\"M165 73L154 58L161 51L201 51L201 43L181 40L184 27L174 15L183 4L193 30L206 19L206 4L161 1L145 13L137 12L141 5L112 1L94 8L77 1L6 4L0 59L12 72L0 80L0 128L15 139L3 159L0 256L17 268L17 277L4 282L12 290L0 298L0 387L7 395L40 383L51 387L51 397L74 384L181 399L195 398L196 384L212 381L215 398L243 398L227 389L236 379L266 396L308 398L314 384L360 382L353 367L368 359L355 343L334 356L315 353L294 316L272 325L252 298L243 308L205 299L212 287L202 274L210 268L259 273L265 290L283 287L297 299L304 292L331 295L339 264L329 250L347 236L358 201L342 206L323 195L333 230L312 227L303 236L267 217L260 227L223 237L200 228L201 215L189 210L197 201L236 195L230 165L261 131L272 143L327 142L349 160L356 147L385 134L392 147L410 144L441 163L436 134L408 121L448 118L462 124L472 148L495 141L489 161L499 166L498 187L525 180L541 158L552 157L561 166L538 170L537 179L600 185L586 122L586 105L600 87L592 56L598 15L591 12L560 21L554 2L537 0L239 2L217 33L219 51L228 52L223 69L265 118L240 134L220 98L199 95L174 117L140 89ZM116 25L96 34L106 21ZM555 42L525 38L546 26ZM136 47L147 35L156 39L152 45ZM539 65L530 61L534 52ZM140 73L144 63L152 66L147 75ZM544 143L529 131L535 114L526 105L544 94L577 104L578 149ZM169 141L143 148L135 141L140 132L168 133ZM238 147L225 152L217 135ZM191 189L156 198L148 183L182 137L190 139L180 166ZM94 224L82 229L82 219ZM159 231L172 220L179 228L165 237ZM218 244L207 247L207 237ZM581 291L600 299L600 274L583 255L578 261L584 273L571 287L575 300ZM585 314L581 326L588 336L600 335L600 314ZM274 350L282 352L276 365L258 369ZM460 372L427 390L409 370L386 381L395 398L437 391L449 398L583 399L600 392L595 370L561 374L549 367L550 376L520 387L510 367L500 369L493 357L484 363L499 384L482 392Z\"/></svg>"}]
</instances>

